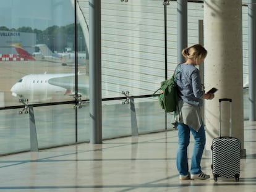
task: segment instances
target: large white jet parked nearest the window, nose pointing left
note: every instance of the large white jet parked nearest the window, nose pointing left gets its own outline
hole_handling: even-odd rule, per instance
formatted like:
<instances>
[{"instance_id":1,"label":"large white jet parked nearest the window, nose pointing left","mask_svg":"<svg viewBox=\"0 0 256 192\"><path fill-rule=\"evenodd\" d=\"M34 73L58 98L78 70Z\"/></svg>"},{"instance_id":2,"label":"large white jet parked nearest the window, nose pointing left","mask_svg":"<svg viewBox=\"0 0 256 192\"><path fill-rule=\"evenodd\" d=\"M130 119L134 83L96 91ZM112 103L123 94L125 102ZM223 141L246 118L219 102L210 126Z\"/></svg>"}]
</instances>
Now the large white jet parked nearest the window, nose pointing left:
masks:
<instances>
[{"instance_id":1,"label":"large white jet parked nearest the window, nose pointing left","mask_svg":"<svg viewBox=\"0 0 256 192\"><path fill-rule=\"evenodd\" d=\"M88 76L79 74L79 94L88 98ZM12 96L28 99L29 102L42 102L51 99L62 99L65 95L74 95L74 73L30 74L22 77L12 88Z\"/></svg>"}]
</instances>

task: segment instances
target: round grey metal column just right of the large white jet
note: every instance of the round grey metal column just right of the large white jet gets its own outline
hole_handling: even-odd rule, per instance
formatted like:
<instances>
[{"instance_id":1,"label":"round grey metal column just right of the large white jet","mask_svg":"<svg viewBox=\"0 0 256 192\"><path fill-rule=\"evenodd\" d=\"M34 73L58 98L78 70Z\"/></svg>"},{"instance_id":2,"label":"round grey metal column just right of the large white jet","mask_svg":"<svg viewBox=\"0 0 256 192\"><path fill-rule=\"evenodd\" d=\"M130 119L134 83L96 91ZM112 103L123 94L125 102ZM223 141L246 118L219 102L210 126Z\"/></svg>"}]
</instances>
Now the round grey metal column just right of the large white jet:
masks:
<instances>
[{"instance_id":1,"label":"round grey metal column just right of the large white jet","mask_svg":"<svg viewBox=\"0 0 256 192\"><path fill-rule=\"evenodd\" d=\"M102 143L101 1L89 0L90 143Z\"/></svg>"}]
</instances>

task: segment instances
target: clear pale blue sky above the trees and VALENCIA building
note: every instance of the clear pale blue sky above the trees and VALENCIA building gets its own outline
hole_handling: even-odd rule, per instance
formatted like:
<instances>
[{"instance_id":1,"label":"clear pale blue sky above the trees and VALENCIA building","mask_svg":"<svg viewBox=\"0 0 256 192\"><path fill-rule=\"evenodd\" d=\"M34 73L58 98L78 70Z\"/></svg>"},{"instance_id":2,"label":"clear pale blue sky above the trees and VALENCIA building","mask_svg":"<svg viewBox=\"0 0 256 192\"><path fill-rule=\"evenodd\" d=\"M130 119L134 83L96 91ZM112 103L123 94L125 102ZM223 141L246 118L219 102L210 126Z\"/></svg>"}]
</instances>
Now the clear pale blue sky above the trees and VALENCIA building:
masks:
<instances>
[{"instance_id":1,"label":"clear pale blue sky above the trees and VALENCIA building","mask_svg":"<svg viewBox=\"0 0 256 192\"><path fill-rule=\"evenodd\" d=\"M45 28L74 23L73 0L1 0L0 26Z\"/></svg>"}]
</instances>

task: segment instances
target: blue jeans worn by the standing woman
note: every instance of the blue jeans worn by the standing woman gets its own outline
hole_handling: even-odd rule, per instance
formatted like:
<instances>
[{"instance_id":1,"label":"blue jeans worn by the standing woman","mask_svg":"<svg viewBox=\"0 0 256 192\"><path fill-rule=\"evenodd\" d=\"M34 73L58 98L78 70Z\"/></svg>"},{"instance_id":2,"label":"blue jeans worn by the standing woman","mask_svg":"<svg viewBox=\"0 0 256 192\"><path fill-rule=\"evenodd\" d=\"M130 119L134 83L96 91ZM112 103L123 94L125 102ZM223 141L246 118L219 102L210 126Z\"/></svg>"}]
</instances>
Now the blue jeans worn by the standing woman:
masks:
<instances>
[{"instance_id":1,"label":"blue jeans worn by the standing woman","mask_svg":"<svg viewBox=\"0 0 256 192\"><path fill-rule=\"evenodd\" d=\"M194 136L195 144L191 159L191 174L198 174L202 172L201 170L201 159L203 155L203 149L205 148L205 128L200 127L200 129L195 131L193 128L185 125L184 123L177 123L178 128L178 149L177 149L177 170L180 175L187 175L189 172L189 165L187 162L187 146L189 146L190 141L190 131Z\"/></svg>"}]
</instances>

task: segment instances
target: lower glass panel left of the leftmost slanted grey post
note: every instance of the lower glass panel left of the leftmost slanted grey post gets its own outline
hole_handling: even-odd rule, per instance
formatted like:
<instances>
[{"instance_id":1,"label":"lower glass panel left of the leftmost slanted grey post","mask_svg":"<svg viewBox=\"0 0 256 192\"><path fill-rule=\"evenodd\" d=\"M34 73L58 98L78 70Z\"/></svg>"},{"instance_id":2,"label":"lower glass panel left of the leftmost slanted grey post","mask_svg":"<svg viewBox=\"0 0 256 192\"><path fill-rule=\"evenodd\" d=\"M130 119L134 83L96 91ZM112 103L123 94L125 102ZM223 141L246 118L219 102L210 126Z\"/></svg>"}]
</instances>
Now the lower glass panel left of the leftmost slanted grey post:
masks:
<instances>
[{"instance_id":1,"label":"lower glass panel left of the leftmost slanted grey post","mask_svg":"<svg viewBox=\"0 0 256 192\"><path fill-rule=\"evenodd\" d=\"M21 110L0 111L0 155L30 150L29 116L21 115Z\"/></svg>"}]
</instances>

